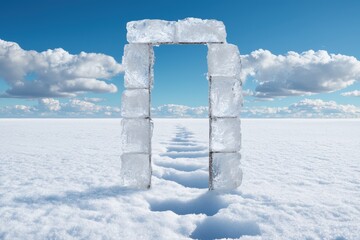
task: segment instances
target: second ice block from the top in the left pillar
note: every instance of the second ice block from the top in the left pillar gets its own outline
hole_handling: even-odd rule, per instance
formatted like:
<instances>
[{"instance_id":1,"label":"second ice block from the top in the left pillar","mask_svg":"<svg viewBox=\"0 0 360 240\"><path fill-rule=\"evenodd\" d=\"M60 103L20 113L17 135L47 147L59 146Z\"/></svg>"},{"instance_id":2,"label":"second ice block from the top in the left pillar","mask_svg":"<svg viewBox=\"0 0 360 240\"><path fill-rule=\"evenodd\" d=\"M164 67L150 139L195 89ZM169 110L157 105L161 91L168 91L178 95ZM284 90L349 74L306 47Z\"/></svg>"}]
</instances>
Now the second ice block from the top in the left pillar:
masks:
<instances>
[{"instance_id":1,"label":"second ice block from the top in the left pillar","mask_svg":"<svg viewBox=\"0 0 360 240\"><path fill-rule=\"evenodd\" d=\"M148 89L125 90L121 97L121 116L149 117L149 105Z\"/></svg>"}]
</instances>

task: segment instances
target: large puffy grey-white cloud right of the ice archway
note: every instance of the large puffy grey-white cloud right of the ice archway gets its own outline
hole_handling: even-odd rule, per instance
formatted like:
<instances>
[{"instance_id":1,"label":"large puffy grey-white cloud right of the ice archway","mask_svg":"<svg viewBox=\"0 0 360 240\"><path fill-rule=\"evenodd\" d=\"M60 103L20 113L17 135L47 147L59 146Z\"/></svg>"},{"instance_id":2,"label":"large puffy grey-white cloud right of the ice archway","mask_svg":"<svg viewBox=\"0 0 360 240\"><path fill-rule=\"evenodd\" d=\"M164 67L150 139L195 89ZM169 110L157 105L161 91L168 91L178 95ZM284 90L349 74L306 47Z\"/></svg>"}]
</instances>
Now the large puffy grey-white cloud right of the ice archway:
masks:
<instances>
[{"instance_id":1,"label":"large puffy grey-white cloud right of the ice archway","mask_svg":"<svg viewBox=\"0 0 360 240\"><path fill-rule=\"evenodd\" d=\"M259 98L310 95L344 89L360 80L360 62L352 56L309 50L274 55L259 49L242 56L242 77L257 82Z\"/></svg>"}]
</instances>

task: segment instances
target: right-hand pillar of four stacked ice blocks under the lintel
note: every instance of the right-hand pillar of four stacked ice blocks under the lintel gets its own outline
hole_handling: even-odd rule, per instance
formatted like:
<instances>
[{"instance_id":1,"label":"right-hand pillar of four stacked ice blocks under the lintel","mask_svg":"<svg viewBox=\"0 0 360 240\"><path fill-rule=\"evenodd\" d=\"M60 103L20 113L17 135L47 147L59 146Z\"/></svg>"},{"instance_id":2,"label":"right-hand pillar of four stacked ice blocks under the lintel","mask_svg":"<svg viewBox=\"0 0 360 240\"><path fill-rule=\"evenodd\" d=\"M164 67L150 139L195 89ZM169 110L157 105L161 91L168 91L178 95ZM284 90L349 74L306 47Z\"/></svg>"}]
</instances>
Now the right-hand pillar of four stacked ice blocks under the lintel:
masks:
<instances>
[{"instance_id":1,"label":"right-hand pillar of four stacked ice blocks under the lintel","mask_svg":"<svg viewBox=\"0 0 360 240\"><path fill-rule=\"evenodd\" d=\"M235 189L242 181L240 53L232 44L208 44L209 189Z\"/></svg>"}]
</instances>

